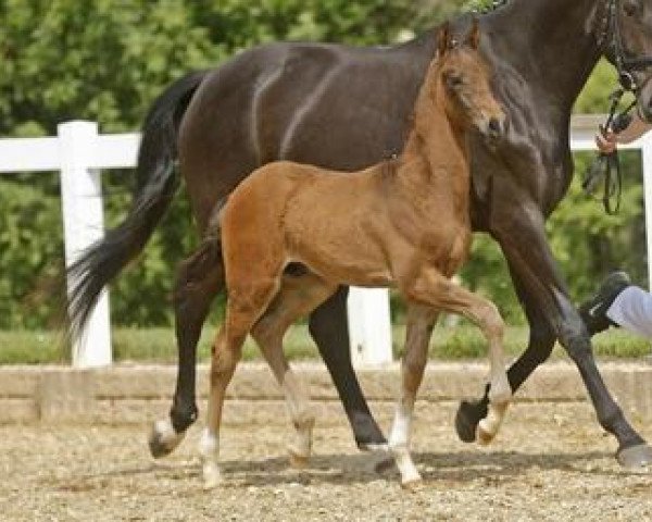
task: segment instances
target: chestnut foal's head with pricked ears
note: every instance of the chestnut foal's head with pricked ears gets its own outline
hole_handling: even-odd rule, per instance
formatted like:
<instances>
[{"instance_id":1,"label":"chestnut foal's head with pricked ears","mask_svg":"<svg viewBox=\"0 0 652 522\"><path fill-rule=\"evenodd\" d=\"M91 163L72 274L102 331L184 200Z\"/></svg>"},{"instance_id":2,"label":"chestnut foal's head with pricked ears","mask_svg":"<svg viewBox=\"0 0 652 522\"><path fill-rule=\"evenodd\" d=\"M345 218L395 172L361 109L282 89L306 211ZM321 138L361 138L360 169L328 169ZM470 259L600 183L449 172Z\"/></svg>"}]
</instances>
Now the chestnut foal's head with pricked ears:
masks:
<instances>
[{"instance_id":1,"label":"chestnut foal's head with pricked ears","mask_svg":"<svg viewBox=\"0 0 652 522\"><path fill-rule=\"evenodd\" d=\"M456 40L446 24L439 35L438 55L432 64L431 94L443 103L453 123L475 127L488 138L504 132L505 114L493 98L490 73L478 52L480 30L477 21L464 41Z\"/></svg>"}]
</instances>

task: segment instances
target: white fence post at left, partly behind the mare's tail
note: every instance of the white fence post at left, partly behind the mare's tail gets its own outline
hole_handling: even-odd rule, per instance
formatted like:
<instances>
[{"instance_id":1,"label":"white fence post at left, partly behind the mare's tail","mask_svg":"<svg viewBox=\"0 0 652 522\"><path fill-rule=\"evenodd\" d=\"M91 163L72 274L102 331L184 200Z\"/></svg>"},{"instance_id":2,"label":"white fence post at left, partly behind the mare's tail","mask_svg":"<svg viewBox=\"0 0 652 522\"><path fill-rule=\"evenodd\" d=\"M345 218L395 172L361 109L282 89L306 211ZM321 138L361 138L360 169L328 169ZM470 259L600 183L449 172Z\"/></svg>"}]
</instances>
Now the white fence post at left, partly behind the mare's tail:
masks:
<instances>
[{"instance_id":1,"label":"white fence post at left, partly behind the mare's tail","mask_svg":"<svg viewBox=\"0 0 652 522\"><path fill-rule=\"evenodd\" d=\"M104 213L100 172L91 169L98 146L98 125L67 122L58 126L61 153L61 202L65 236L65 264L104 236ZM67 281L68 291L72 281ZM73 366L111 364L109 296L102 290L88 324L73 339Z\"/></svg>"}]
</instances>

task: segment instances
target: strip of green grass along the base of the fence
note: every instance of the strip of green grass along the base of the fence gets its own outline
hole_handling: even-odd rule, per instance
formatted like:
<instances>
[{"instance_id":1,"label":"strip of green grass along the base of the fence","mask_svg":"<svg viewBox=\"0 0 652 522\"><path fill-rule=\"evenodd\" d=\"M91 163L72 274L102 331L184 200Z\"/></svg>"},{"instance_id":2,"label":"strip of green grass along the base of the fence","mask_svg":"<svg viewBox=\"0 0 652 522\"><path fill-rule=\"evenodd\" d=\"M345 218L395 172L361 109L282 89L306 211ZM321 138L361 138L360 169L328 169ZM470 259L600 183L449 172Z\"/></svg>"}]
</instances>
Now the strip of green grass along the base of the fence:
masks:
<instances>
[{"instance_id":1,"label":"strip of green grass along the base of the fence","mask_svg":"<svg viewBox=\"0 0 652 522\"><path fill-rule=\"evenodd\" d=\"M215 328L206 327L199 343L198 359L208 361ZM176 345L172 328L114 328L113 357L118 362L176 362ZM405 327L393 327L393 351L400 357ZM505 333L505 352L516 357L527 346L528 328L511 326ZM650 355L650 341L622 330L610 330L593 338L595 355L601 359L639 359ZM318 351L306 325L296 325L286 336L285 350L290 360L316 359ZM469 360L487 357L487 345L479 330L471 325L437 326L429 356L437 360ZM249 338L243 359L258 360L260 351ZM557 345L553 358L566 358ZM0 332L0 364L68 363L70 350L58 334L49 332Z\"/></svg>"}]
</instances>

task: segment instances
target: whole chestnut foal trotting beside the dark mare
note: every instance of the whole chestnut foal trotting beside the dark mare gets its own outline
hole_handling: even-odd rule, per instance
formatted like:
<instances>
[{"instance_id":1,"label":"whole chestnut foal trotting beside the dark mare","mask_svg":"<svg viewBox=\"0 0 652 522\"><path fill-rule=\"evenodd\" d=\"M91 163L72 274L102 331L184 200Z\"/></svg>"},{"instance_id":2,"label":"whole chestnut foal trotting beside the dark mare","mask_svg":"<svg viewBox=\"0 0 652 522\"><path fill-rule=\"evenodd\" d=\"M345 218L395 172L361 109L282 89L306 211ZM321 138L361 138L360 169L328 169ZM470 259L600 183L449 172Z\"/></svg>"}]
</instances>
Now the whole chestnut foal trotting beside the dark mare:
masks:
<instances>
[{"instance_id":1,"label":"whole chestnut foal trotting beside the dark mare","mask_svg":"<svg viewBox=\"0 0 652 522\"><path fill-rule=\"evenodd\" d=\"M392 286L408 303L402 393L389 438L405 487L421 481L409 452L410 423L427 359L426 332L440 310L467 316L487 337L491 405L479 435L496 434L512 395L503 322L493 303L450 278L471 245L466 135L475 128L497 138L504 114L477 53L477 24L463 45L448 27L441 35L400 158L354 173L269 163L244 179L217 213L211 233L221 234L228 300L214 344L208 427L200 443L206 487L220 482L224 395L249 333L288 400L297 430L290 455L294 463L309 457L314 418L283 353L283 336L340 284Z\"/></svg>"}]
</instances>

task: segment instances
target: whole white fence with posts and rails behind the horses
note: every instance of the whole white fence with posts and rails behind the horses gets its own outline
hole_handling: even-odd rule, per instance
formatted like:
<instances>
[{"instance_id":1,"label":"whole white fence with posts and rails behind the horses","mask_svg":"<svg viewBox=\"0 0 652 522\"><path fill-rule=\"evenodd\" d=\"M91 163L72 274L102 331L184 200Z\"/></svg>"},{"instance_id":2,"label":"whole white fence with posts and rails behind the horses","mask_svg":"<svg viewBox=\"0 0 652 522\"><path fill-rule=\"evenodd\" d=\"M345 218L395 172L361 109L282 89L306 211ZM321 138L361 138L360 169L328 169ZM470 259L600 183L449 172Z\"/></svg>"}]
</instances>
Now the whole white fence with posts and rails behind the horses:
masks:
<instances>
[{"instance_id":1,"label":"whole white fence with posts and rails behind the horses","mask_svg":"<svg viewBox=\"0 0 652 522\"><path fill-rule=\"evenodd\" d=\"M574 150L595 148L593 136L599 116L577 116L572 125ZM70 265L104 234L100 170L136 165L139 134L99 135L91 122L59 125L58 136L0 139L0 173L61 172L61 201L65 235L65 260ZM623 148L642 150L645 225L652 231L652 133ZM648 269L652 274L652 234L648 234ZM351 355L354 364L391 361L389 298L386 289L351 290L348 303ZM104 291L86 331L73 344L73 365L110 364L111 333L109 296Z\"/></svg>"}]
</instances>

